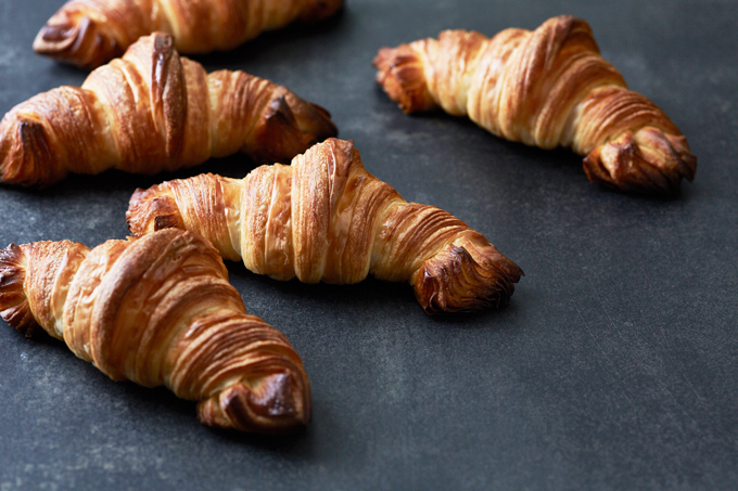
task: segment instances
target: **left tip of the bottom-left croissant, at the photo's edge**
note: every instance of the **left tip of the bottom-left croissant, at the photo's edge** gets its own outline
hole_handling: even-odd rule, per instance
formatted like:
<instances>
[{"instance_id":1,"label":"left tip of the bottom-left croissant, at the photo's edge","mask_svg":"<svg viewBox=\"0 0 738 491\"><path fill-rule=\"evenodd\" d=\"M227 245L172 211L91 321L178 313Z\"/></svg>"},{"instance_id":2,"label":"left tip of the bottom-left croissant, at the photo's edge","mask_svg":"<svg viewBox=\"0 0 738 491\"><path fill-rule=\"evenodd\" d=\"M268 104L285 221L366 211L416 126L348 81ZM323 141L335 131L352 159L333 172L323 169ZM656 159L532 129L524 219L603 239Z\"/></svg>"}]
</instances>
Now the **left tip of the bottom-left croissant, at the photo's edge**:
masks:
<instances>
[{"instance_id":1,"label":"left tip of the bottom-left croissant, at the photo's edge","mask_svg":"<svg viewBox=\"0 0 738 491\"><path fill-rule=\"evenodd\" d=\"M30 337L38 327L24 289L26 255L15 244L0 250L0 316Z\"/></svg>"}]
</instances>

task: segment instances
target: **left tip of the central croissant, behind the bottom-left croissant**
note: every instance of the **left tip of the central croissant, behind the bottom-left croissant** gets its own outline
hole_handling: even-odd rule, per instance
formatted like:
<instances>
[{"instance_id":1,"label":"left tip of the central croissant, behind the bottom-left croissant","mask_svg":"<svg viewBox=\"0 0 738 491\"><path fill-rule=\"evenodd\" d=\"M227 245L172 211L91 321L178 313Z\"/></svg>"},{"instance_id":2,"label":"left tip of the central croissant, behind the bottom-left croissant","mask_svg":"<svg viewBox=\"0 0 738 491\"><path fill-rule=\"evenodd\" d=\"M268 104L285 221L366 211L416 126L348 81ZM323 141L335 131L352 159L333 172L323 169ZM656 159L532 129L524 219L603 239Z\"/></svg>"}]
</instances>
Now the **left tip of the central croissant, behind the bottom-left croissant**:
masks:
<instances>
[{"instance_id":1,"label":"left tip of the central croissant, behind the bottom-left croissant","mask_svg":"<svg viewBox=\"0 0 738 491\"><path fill-rule=\"evenodd\" d=\"M139 188L130 197L126 222L133 236L140 237L163 229L184 230L177 202L161 188L161 184L148 190Z\"/></svg>"}]
</instances>

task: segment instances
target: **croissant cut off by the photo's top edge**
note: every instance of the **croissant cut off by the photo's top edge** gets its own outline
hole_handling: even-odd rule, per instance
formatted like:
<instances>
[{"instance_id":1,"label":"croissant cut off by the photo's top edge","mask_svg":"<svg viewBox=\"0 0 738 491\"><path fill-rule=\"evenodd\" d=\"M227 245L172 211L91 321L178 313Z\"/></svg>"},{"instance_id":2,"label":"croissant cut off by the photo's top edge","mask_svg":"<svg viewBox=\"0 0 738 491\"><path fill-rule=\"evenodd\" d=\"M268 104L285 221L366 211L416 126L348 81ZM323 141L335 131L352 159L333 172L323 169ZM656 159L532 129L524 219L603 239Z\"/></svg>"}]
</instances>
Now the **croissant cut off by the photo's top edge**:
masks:
<instances>
[{"instance_id":1,"label":"croissant cut off by the photo's top edge","mask_svg":"<svg viewBox=\"0 0 738 491\"><path fill-rule=\"evenodd\" d=\"M141 36L173 35L182 53L230 50L294 21L315 22L343 0L69 0L41 28L37 53L84 68L120 56Z\"/></svg>"}]
</instances>

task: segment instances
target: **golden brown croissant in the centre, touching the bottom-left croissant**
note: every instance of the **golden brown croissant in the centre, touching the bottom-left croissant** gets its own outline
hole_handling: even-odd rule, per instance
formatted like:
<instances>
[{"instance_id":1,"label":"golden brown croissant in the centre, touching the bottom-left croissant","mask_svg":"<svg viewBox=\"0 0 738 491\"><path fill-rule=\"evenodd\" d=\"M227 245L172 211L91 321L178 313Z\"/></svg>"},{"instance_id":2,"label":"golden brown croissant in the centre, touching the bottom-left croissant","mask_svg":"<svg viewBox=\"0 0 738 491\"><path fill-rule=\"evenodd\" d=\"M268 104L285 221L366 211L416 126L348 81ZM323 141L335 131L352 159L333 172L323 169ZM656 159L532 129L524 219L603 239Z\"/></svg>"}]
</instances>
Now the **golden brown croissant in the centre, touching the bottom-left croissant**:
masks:
<instances>
[{"instance_id":1,"label":"golden brown croissant in the centre, touching the bottom-left croissant","mask_svg":"<svg viewBox=\"0 0 738 491\"><path fill-rule=\"evenodd\" d=\"M137 190L126 217L136 235L196 231L277 280L409 282L429 313L506 303L523 274L461 220L367 172L351 141L329 139L242 180L202 175Z\"/></svg>"}]
</instances>

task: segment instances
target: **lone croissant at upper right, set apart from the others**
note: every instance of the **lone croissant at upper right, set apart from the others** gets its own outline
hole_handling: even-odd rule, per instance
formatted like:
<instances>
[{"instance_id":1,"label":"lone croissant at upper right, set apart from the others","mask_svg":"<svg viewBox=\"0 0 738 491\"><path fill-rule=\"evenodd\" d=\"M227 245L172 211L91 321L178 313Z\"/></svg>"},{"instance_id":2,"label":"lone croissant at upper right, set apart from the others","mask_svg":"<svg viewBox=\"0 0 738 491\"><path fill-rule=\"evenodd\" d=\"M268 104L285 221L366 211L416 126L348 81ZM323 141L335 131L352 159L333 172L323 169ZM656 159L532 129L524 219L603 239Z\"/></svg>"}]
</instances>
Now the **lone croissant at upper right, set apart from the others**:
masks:
<instances>
[{"instance_id":1,"label":"lone croissant at upper right, set apart from the others","mask_svg":"<svg viewBox=\"0 0 738 491\"><path fill-rule=\"evenodd\" d=\"M446 30L383 48L377 81L406 113L442 107L527 145L570 146L593 182L673 194L697 166L686 138L651 101L627 90L589 25L568 15L488 39Z\"/></svg>"}]
</instances>

